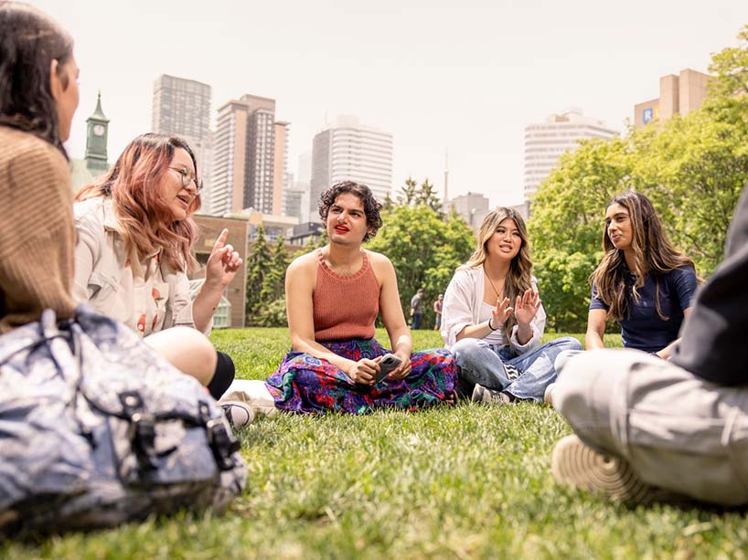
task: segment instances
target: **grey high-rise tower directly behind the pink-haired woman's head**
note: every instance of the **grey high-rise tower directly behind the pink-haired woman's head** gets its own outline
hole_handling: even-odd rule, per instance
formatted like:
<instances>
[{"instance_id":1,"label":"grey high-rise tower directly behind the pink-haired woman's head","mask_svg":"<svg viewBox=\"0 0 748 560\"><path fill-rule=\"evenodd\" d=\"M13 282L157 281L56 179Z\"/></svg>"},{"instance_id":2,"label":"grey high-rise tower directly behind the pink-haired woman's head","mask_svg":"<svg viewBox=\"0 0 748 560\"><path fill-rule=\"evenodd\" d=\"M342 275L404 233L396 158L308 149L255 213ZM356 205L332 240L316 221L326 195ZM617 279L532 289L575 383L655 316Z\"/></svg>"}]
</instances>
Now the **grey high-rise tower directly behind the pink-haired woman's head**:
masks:
<instances>
[{"instance_id":1,"label":"grey high-rise tower directly behind the pink-haired woman's head","mask_svg":"<svg viewBox=\"0 0 748 560\"><path fill-rule=\"evenodd\" d=\"M194 79L163 74L154 82L151 130L184 138L195 153L205 190L201 214L211 214L213 138L210 132L210 86Z\"/></svg>"}]
</instances>

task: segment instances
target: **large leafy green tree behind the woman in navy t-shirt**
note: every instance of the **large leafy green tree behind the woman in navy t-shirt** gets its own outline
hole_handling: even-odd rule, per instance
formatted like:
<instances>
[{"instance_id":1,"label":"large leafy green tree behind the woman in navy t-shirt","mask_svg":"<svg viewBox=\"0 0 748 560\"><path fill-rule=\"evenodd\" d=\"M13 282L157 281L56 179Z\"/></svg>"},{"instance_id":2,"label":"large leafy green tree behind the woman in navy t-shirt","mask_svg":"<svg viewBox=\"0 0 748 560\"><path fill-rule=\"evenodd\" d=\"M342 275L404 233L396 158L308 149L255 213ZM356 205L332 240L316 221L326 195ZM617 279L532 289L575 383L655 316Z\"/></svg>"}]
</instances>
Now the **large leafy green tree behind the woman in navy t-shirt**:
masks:
<instances>
[{"instance_id":1,"label":"large leafy green tree behind the woman in navy t-shirt","mask_svg":"<svg viewBox=\"0 0 748 560\"><path fill-rule=\"evenodd\" d=\"M621 138L561 156L532 201L529 234L549 325L584 328L602 258L604 206L635 188L657 207L668 236L702 276L721 260L730 218L748 181L748 26L737 48L714 55L704 106Z\"/></svg>"}]
</instances>

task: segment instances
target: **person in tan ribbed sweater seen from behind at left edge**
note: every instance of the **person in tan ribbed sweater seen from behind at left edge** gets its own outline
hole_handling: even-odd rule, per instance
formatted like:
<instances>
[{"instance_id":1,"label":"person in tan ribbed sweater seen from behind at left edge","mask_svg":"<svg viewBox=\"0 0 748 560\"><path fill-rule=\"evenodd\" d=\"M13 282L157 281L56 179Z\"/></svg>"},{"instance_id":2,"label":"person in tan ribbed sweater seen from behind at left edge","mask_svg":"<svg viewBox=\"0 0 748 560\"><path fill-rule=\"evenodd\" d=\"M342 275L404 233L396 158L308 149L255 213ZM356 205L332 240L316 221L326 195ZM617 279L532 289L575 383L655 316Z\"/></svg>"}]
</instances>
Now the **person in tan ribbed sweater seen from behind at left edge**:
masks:
<instances>
[{"instance_id":1,"label":"person in tan ribbed sweater seen from behind at left edge","mask_svg":"<svg viewBox=\"0 0 748 560\"><path fill-rule=\"evenodd\" d=\"M73 40L30 5L0 2L0 333L75 312L68 156Z\"/></svg>"}]
</instances>

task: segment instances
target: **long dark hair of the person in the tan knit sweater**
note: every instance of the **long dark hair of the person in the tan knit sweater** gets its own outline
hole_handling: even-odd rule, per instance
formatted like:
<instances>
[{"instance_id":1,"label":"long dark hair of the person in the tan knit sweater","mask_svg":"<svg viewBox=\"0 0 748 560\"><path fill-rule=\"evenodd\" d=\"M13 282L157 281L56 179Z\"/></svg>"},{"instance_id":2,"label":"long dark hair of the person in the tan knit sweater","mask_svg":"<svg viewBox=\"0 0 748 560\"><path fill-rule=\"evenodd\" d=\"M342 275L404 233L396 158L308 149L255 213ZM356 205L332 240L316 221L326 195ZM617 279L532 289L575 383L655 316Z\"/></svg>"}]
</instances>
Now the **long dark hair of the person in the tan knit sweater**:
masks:
<instances>
[{"instance_id":1,"label":"long dark hair of the person in the tan knit sweater","mask_svg":"<svg viewBox=\"0 0 748 560\"><path fill-rule=\"evenodd\" d=\"M0 124L30 132L66 157L49 72L57 60L67 88L62 66L72 49L72 37L54 19L31 5L0 0Z\"/></svg>"}]
</instances>

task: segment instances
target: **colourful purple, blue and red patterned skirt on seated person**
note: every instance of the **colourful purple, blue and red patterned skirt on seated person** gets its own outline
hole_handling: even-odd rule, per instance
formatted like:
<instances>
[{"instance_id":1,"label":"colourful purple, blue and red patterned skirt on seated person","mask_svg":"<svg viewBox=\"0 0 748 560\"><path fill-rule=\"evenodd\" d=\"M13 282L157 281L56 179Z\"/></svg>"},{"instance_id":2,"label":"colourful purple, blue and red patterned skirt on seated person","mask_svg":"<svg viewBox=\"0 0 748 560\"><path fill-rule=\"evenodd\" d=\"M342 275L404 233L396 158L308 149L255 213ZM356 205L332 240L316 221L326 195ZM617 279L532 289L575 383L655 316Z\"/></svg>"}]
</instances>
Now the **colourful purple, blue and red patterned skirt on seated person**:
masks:
<instances>
[{"instance_id":1,"label":"colourful purple, blue and red patterned skirt on seated person","mask_svg":"<svg viewBox=\"0 0 748 560\"><path fill-rule=\"evenodd\" d=\"M388 353L373 338L322 344L355 361ZM430 407L454 400L456 383L454 356L443 348L411 354L411 373L407 377L400 381L384 379L374 386L354 383L327 360L301 352L285 354L278 371L265 380L275 407L317 414L330 410L363 414L380 407Z\"/></svg>"}]
</instances>

